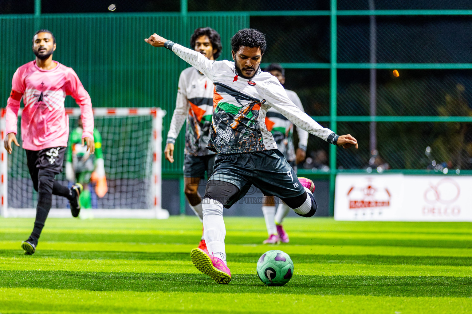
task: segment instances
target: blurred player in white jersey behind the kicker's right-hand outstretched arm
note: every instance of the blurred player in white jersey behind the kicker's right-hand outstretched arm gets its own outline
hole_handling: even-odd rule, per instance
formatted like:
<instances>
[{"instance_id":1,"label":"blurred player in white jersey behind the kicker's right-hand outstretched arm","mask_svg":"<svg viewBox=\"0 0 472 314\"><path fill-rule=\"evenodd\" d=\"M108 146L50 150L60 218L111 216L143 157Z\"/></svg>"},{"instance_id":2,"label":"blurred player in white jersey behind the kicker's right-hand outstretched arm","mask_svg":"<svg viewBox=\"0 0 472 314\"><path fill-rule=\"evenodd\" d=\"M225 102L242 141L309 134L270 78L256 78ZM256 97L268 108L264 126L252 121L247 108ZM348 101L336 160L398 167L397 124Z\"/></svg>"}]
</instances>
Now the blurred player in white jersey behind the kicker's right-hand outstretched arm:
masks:
<instances>
[{"instance_id":1,"label":"blurred player in white jersey behind the kicker's right-hand outstretched arm","mask_svg":"<svg viewBox=\"0 0 472 314\"><path fill-rule=\"evenodd\" d=\"M285 69L280 66L280 64L269 64L269 66L265 68L264 71L269 72L275 76L280 84L285 84ZM301 111L305 112L298 95L292 90L285 89L285 91L287 92L288 98L295 105L297 105ZM306 157L308 132L304 129L296 127L298 135L298 148L295 153L295 145L293 142L294 125L292 122L290 122L283 114L279 113L274 108L270 108L267 110L265 124L267 130L272 133L272 136L277 143L278 150L284 155L296 173L296 165L302 162ZM288 207L288 205L282 201L278 205L276 213L274 196L264 196L262 202L262 212L264 213L267 233L269 234L269 238L264 240L264 244L276 244L280 242L288 243L288 235L282 226L282 221L288 215L289 211L290 207Z\"/></svg>"}]
</instances>

